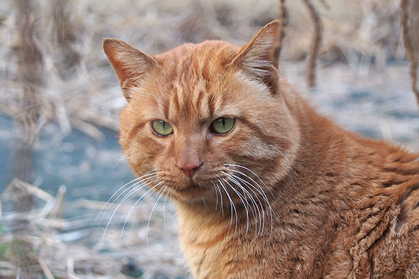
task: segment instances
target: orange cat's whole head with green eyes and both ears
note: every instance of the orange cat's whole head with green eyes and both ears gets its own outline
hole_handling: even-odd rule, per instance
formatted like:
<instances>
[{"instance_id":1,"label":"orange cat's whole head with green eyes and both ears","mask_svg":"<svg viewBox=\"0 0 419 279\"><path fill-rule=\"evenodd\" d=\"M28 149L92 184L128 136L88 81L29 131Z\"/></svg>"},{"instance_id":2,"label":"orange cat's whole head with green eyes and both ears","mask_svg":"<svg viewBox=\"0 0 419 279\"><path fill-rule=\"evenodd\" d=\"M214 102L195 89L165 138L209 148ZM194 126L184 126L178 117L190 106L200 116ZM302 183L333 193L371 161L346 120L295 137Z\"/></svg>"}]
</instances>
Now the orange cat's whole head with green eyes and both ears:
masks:
<instances>
[{"instance_id":1,"label":"orange cat's whole head with green eyes and both ears","mask_svg":"<svg viewBox=\"0 0 419 279\"><path fill-rule=\"evenodd\" d=\"M150 56L106 38L103 49L128 100L120 142L155 190L238 200L240 187L259 195L291 167L299 131L279 84L278 21L242 48L205 41Z\"/></svg>"}]
</instances>

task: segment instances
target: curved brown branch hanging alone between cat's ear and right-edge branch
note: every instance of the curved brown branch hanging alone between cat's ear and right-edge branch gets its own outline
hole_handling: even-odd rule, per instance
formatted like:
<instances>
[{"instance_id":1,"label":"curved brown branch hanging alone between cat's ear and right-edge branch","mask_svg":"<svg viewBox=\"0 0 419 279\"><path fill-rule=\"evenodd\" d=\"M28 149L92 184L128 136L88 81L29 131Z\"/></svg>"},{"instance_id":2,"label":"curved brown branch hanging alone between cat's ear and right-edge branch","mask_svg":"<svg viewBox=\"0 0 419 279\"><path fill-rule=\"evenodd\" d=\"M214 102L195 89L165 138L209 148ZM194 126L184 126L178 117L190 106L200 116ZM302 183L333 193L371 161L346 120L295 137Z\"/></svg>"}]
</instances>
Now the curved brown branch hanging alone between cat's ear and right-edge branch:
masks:
<instances>
[{"instance_id":1,"label":"curved brown branch hanging alone between cat's ear and right-edge branch","mask_svg":"<svg viewBox=\"0 0 419 279\"><path fill-rule=\"evenodd\" d=\"M309 64L307 66L307 84L313 87L316 85L316 62L318 59L318 51L320 50L322 40L322 23L316 8L314 8L311 0L302 0L309 10L311 20L314 24L314 37L311 42L311 50L309 55Z\"/></svg>"}]
</instances>

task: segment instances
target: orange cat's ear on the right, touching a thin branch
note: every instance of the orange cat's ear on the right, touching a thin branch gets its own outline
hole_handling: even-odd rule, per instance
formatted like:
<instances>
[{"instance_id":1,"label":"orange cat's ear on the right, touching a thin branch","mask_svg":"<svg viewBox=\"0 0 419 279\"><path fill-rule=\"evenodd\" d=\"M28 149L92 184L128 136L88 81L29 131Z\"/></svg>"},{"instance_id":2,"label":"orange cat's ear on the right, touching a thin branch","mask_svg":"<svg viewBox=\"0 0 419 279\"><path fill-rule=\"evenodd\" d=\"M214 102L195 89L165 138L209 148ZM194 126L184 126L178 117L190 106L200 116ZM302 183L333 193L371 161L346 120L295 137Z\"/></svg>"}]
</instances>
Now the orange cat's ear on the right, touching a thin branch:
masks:
<instances>
[{"instance_id":1,"label":"orange cat's ear on the right, touching a thin branch","mask_svg":"<svg viewBox=\"0 0 419 279\"><path fill-rule=\"evenodd\" d=\"M278 83L278 63L280 50L279 20L265 25L231 62L241 67L252 80L266 84L276 93Z\"/></svg>"}]
</instances>

